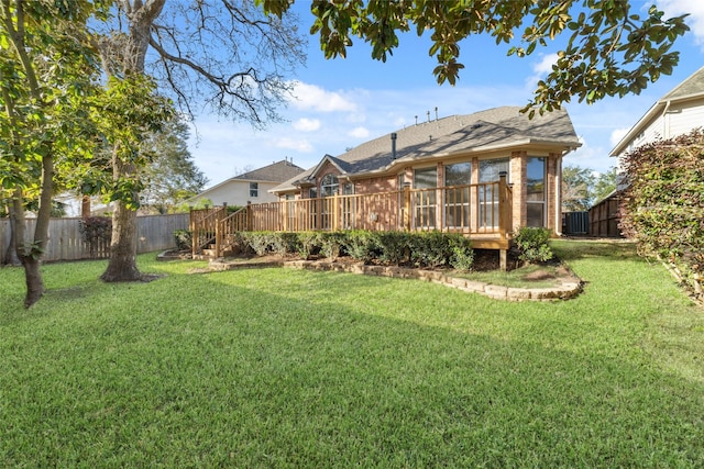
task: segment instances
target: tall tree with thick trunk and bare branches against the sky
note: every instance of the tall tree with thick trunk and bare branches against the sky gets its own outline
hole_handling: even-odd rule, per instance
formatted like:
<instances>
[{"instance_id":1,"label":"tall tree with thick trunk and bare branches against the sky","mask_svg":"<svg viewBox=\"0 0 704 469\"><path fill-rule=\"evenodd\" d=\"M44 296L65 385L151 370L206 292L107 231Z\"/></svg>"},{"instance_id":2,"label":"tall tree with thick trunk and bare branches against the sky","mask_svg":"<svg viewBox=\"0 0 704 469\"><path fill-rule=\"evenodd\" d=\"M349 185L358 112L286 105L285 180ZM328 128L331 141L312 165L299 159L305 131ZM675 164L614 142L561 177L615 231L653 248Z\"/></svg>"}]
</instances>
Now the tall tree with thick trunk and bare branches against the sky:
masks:
<instances>
[{"instance_id":1,"label":"tall tree with thick trunk and bare branches against the sky","mask_svg":"<svg viewBox=\"0 0 704 469\"><path fill-rule=\"evenodd\" d=\"M295 24L265 15L248 1L116 0L111 22L98 25L103 70L113 77L150 75L193 116L193 105L255 126L279 120L292 90L287 75L302 62ZM135 165L113 166L130 179ZM134 204L119 201L103 280L139 280Z\"/></svg>"}]
</instances>

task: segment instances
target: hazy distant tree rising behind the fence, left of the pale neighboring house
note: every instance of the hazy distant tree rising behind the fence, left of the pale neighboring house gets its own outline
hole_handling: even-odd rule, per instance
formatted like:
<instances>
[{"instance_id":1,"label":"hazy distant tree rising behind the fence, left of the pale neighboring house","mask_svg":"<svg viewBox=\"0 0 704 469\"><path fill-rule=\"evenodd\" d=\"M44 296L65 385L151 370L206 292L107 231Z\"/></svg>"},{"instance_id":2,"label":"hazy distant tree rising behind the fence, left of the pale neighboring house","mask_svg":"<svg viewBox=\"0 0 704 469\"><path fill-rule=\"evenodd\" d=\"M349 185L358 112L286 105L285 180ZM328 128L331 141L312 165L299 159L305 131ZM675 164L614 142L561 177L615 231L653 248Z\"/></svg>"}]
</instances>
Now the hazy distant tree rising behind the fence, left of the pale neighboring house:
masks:
<instances>
[{"instance_id":1,"label":"hazy distant tree rising behind the fence, left of the pale neighboring house","mask_svg":"<svg viewBox=\"0 0 704 469\"><path fill-rule=\"evenodd\" d=\"M194 164L187 141L188 126L180 120L148 138L154 159L144 169L147 183L141 193L142 206L167 213L206 186L208 179Z\"/></svg>"}]
</instances>

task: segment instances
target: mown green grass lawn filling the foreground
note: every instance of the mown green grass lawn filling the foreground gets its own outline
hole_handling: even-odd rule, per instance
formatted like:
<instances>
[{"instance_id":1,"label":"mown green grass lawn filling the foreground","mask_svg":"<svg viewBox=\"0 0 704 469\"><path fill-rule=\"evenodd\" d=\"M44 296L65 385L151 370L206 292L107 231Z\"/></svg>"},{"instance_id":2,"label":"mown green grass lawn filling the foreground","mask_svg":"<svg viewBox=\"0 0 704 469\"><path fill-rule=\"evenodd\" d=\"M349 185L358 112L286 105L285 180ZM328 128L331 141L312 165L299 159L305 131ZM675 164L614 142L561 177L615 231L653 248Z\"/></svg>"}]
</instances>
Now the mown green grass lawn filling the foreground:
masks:
<instances>
[{"instance_id":1,"label":"mown green grass lawn filling the foreground","mask_svg":"<svg viewBox=\"0 0 704 469\"><path fill-rule=\"evenodd\" d=\"M576 299L280 268L0 269L1 467L701 467L704 311L631 245Z\"/></svg>"}]
</instances>

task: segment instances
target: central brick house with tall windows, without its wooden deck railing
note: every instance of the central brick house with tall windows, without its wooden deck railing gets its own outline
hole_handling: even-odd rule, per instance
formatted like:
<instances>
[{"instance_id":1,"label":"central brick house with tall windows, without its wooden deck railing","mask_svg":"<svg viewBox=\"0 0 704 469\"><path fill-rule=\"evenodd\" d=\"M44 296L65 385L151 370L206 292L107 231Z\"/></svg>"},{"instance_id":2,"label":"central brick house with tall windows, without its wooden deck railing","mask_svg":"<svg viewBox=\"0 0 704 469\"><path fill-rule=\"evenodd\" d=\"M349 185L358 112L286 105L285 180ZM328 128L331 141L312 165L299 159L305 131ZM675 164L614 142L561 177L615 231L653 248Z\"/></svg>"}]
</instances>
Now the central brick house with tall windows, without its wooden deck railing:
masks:
<instances>
[{"instance_id":1,"label":"central brick house with tall windows, without its wooden deck railing","mask_svg":"<svg viewBox=\"0 0 704 469\"><path fill-rule=\"evenodd\" d=\"M272 192L292 201L409 186L417 191L411 228L472 234L477 223L493 223L485 216L496 203L493 189L481 185L498 181L506 171L513 187L510 227L543 226L559 235L562 158L580 143L564 110L530 120L520 109L495 108L398 130L342 155L326 155ZM461 189L435 190L451 187ZM383 210L369 216L393 219Z\"/></svg>"}]
</instances>

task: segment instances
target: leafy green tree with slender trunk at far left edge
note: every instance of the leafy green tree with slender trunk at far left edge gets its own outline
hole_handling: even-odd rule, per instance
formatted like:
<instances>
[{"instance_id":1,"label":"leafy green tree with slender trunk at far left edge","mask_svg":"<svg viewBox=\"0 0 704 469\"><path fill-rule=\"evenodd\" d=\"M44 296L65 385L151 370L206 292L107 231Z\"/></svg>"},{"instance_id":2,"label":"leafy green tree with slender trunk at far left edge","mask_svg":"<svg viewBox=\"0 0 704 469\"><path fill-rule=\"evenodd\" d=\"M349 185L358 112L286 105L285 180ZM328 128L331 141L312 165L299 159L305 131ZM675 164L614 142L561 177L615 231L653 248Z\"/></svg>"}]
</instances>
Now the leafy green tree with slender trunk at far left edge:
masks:
<instances>
[{"instance_id":1,"label":"leafy green tree with slender trunk at far left edge","mask_svg":"<svg viewBox=\"0 0 704 469\"><path fill-rule=\"evenodd\" d=\"M96 90L86 23L89 1L0 1L0 183L10 191L15 253L26 308L44 292L40 271L48 238L55 164L85 157L91 136L87 100ZM37 200L28 235L24 210ZM25 241L29 239L29 241Z\"/></svg>"}]
</instances>

